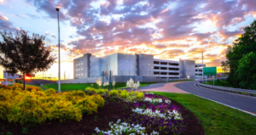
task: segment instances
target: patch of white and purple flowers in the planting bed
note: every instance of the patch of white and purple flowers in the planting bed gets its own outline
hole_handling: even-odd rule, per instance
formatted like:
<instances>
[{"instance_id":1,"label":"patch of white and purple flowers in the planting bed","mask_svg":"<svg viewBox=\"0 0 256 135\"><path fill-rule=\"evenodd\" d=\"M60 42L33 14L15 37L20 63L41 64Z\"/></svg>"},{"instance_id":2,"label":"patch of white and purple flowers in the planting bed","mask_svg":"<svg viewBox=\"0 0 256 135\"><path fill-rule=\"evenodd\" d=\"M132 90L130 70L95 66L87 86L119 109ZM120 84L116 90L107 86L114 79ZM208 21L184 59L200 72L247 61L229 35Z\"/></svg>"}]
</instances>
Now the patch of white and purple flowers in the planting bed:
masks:
<instances>
[{"instance_id":1,"label":"patch of white and purple flowers in the planting bed","mask_svg":"<svg viewBox=\"0 0 256 135\"><path fill-rule=\"evenodd\" d=\"M96 127L96 133L109 135L116 133L146 134L146 129L152 131L149 134L180 134L183 132L186 124L177 106L171 104L171 100L160 98L160 96L153 93L146 93L144 97L144 99L137 100L133 104L134 109L131 110L133 113L124 117L124 123L119 123L118 121L114 125L110 124L110 129L105 132ZM139 127L137 132L133 130L135 127L132 126L134 125Z\"/></svg>"}]
</instances>

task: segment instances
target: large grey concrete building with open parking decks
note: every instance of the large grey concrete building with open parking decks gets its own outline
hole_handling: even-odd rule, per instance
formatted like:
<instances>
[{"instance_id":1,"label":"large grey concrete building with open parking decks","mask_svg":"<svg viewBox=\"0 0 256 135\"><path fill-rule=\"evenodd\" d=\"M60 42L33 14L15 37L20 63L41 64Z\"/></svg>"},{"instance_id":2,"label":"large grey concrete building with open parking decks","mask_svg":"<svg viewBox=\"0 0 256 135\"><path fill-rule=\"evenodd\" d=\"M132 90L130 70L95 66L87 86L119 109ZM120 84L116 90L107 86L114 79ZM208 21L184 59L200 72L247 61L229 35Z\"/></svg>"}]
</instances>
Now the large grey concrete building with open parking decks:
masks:
<instances>
[{"instance_id":1,"label":"large grey concrete building with open parking decks","mask_svg":"<svg viewBox=\"0 0 256 135\"><path fill-rule=\"evenodd\" d=\"M140 82L165 82L187 76L195 79L202 76L202 66L205 65L195 64L195 60L154 59L154 55L143 53L113 53L102 58L85 53L73 60L73 80L95 82L98 77L104 80L103 77L109 78L110 71L116 82L126 82L130 77Z\"/></svg>"}]
</instances>

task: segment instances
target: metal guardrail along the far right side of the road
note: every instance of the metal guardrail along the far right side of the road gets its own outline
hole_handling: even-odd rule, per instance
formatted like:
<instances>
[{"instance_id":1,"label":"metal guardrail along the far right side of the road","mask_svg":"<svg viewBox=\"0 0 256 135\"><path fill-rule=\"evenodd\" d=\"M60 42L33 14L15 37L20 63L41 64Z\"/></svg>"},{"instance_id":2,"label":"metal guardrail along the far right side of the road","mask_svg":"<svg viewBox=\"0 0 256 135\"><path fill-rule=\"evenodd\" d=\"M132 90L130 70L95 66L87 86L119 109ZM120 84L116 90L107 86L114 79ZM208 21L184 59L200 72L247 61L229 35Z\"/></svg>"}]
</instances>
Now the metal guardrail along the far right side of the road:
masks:
<instances>
[{"instance_id":1,"label":"metal guardrail along the far right side of the road","mask_svg":"<svg viewBox=\"0 0 256 135\"><path fill-rule=\"evenodd\" d=\"M210 88L210 89L224 91L224 92L228 92L228 93L239 93L239 94L247 93L249 96L252 96L252 97L254 97L253 94L256 95L256 91L253 91L253 90L233 88L233 87L217 87L217 86L202 84L201 81L198 82L198 86L207 87L207 88Z\"/></svg>"}]
</instances>

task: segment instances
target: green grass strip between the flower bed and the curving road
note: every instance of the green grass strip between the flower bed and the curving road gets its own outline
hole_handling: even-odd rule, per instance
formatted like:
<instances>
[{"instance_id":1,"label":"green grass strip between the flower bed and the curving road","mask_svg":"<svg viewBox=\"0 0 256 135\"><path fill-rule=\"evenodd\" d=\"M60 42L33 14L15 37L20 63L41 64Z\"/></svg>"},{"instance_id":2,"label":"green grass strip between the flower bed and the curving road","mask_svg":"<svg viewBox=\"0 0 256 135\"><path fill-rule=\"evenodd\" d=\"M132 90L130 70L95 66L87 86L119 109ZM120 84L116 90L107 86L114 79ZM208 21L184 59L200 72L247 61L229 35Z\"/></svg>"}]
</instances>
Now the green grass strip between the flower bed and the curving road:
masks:
<instances>
[{"instance_id":1,"label":"green grass strip between the flower bed and the curving road","mask_svg":"<svg viewBox=\"0 0 256 135\"><path fill-rule=\"evenodd\" d=\"M206 134L256 134L256 116L188 93L154 93L183 104L199 119Z\"/></svg>"}]
</instances>

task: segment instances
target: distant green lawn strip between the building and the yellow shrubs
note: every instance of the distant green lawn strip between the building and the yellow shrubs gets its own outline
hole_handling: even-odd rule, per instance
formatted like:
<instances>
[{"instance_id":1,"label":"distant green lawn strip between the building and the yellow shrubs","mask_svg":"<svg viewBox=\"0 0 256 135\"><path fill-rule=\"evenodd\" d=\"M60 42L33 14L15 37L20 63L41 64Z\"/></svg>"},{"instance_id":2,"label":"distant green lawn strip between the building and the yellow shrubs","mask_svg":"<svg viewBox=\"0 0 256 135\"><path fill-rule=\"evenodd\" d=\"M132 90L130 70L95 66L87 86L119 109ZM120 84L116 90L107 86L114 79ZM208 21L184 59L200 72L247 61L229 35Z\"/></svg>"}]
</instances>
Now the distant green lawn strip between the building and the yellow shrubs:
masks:
<instances>
[{"instance_id":1,"label":"distant green lawn strip between the building and the yellow shrubs","mask_svg":"<svg viewBox=\"0 0 256 135\"><path fill-rule=\"evenodd\" d=\"M194 81L194 80L180 80L180 81L172 81L172 82L181 82L181 81ZM141 87L144 86L148 86L150 84L154 84L154 83L160 83L160 82L140 82L141 83ZM91 87L91 84L93 84L94 88L98 88L96 83L64 83L61 84L61 92L65 92L65 91L70 91L70 90L84 90L85 87ZM55 91L58 91L58 84L54 83L54 84L45 84L44 87L46 89L48 88L53 88L55 89ZM113 86L111 86L113 89ZM116 82L114 89L119 89L119 88L125 88L126 87L126 83L125 82Z\"/></svg>"}]
</instances>

